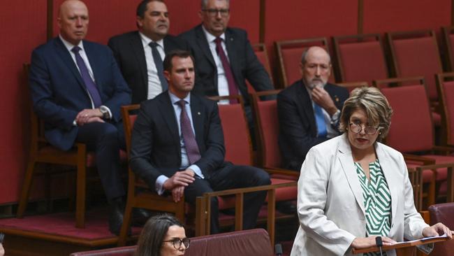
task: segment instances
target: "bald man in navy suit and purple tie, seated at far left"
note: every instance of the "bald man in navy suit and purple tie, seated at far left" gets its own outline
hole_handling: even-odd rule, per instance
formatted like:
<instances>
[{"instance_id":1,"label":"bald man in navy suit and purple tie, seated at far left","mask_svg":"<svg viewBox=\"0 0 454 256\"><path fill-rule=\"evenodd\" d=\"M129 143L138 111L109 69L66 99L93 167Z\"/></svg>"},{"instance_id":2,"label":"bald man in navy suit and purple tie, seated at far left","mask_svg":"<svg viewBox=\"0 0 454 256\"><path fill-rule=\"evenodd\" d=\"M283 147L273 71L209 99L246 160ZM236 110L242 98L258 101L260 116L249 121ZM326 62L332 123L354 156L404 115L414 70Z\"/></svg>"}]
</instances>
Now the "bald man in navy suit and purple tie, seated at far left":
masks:
<instances>
[{"instance_id":1,"label":"bald man in navy suit and purple tie, seated at far left","mask_svg":"<svg viewBox=\"0 0 454 256\"><path fill-rule=\"evenodd\" d=\"M64 1L60 34L31 55L30 89L34 111L45 122L45 138L61 150L75 142L96 152L96 166L110 203L109 229L119 233L123 197L119 150L125 148L120 106L131 102L110 49L83 40L89 16L82 1Z\"/></svg>"}]
</instances>

